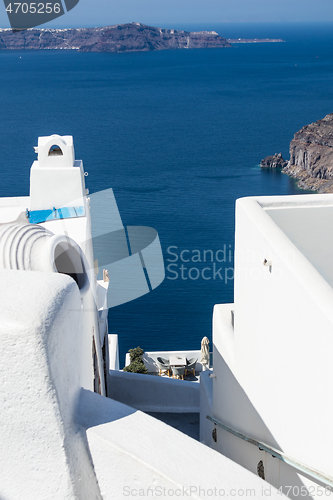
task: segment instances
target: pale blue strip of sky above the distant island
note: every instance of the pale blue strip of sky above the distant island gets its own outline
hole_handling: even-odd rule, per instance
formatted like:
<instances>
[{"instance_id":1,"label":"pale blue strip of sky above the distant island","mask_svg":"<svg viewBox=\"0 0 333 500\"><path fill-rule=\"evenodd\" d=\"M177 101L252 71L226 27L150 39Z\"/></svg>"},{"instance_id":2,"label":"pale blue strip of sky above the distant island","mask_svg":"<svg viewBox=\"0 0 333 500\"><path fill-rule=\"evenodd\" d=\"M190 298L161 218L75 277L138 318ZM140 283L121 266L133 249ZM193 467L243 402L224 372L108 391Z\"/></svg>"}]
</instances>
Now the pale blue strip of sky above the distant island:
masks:
<instances>
[{"instance_id":1,"label":"pale blue strip of sky above the distant island","mask_svg":"<svg viewBox=\"0 0 333 500\"><path fill-rule=\"evenodd\" d=\"M80 0L72 11L42 27L313 21L333 22L333 0ZM3 2L0 26L10 27Z\"/></svg>"}]
</instances>

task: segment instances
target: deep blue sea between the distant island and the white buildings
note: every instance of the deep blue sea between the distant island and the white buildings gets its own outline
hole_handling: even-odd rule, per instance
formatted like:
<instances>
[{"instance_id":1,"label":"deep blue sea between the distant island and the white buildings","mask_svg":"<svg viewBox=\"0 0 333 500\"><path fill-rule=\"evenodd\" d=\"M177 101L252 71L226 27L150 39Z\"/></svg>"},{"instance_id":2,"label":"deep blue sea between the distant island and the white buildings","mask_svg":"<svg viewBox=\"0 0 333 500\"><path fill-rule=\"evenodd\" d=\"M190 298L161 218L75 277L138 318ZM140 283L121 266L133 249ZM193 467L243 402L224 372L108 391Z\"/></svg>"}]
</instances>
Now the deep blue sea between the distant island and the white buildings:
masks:
<instances>
[{"instance_id":1,"label":"deep blue sea between the distant island and the white buildings","mask_svg":"<svg viewBox=\"0 0 333 500\"><path fill-rule=\"evenodd\" d=\"M331 24L162 27L285 42L0 52L0 196L28 195L38 136L73 135L90 192L112 187L124 225L159 233L164 282L109 311L121 364L138 345L199 349L211 339L214 304L233 301L235 200L304 193L260 160L288 159L294 133L333 112Z\"/></svg>"}]
</instances>

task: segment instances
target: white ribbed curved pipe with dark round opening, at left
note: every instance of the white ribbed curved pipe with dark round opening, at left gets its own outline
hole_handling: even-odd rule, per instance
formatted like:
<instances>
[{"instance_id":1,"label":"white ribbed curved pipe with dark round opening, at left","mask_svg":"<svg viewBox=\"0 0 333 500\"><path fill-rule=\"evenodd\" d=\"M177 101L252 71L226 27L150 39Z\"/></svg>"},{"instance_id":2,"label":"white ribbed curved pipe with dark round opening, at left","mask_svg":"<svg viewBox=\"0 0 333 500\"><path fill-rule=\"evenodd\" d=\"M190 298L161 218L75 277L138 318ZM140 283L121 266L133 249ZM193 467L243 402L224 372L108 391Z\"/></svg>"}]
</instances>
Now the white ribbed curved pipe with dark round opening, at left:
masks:
<instances>
[{"instance_id":1,"label":"white ribbed curved pipe with dark round opening, at left","mask_svg":"<svg viewBox=\"0 0 333 500\"><path fill-rule=\"evenodd\" d=\"M88 266L79 245L38 224L0 226L0 269L67 274L76 281L81 296L89 289Z\"/></svg>"}]
</instances>

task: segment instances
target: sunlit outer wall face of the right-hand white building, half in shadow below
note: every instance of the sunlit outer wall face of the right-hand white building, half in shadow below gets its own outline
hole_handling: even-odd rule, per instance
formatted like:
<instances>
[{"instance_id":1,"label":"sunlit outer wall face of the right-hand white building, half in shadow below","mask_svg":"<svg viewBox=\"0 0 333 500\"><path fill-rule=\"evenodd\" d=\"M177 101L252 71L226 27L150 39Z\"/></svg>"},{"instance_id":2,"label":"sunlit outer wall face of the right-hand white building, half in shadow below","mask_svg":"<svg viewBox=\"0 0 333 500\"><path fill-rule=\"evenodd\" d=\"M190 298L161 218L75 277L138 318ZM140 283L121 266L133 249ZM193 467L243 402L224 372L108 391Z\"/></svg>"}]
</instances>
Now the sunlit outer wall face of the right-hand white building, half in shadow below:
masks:
<instances>
[{"instance_id":1,"label":"sunlit outer wall face of the right-hand white building, half in shadow below","mask_svg":"<svg viewBox=\"0 0 333 500\"><path fill-rule=\"evenodd\" d=\"M299 206L299 198L332 204L325 195L288 201ZM235 268L233 336L228 317L214 311L214 416L333 476L333 290L254 199L237 201ZM253 472L263 460L272 484L308 484L226 431L217 438L216 449Z\"/></svg>"}]
</instances>

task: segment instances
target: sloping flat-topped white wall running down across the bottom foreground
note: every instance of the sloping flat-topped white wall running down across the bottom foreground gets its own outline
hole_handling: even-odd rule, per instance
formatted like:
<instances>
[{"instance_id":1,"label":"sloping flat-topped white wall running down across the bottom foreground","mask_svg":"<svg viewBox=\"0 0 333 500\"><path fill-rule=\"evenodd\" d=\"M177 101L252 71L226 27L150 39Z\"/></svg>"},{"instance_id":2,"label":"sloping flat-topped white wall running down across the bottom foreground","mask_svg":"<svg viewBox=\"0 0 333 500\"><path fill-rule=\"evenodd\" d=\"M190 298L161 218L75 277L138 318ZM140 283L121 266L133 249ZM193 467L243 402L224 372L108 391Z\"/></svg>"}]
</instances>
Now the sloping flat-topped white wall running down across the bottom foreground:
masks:
<instances>
[{"instance_id":1,"label":"sloping flat-topped white wall running down across the bottom foreground","mask_svg":"<svg viewBox=\"0 0 333 500\"><path fill-rule=\"evenodd\" d=\"M79 415L104 500L285 498L235 462L141 411L83 390Z\"/></svg>"}]
</instances>

